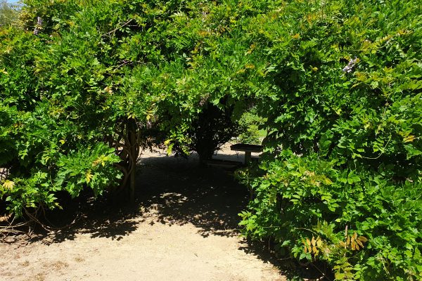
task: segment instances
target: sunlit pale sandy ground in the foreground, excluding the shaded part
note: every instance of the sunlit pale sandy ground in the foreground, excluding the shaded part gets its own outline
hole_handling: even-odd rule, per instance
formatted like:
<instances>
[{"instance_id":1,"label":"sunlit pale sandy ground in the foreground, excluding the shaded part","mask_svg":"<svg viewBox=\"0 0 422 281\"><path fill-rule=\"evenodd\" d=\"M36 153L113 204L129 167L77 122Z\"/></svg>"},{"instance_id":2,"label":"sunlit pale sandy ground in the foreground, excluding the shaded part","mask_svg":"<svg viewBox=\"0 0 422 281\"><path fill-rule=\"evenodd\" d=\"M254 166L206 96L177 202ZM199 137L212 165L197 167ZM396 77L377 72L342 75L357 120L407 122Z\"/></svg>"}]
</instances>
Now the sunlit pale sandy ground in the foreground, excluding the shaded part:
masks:
<instances>
[{"instance_id":1,"label":"sunlit pale sandy ground in the foreground, excluding the shaded part","mask_svg":"<svg viewBox=\"0 0 422 281\"><path fill-rule=\"evenodd\" d=\"M238 249L237 237L202 237L188 224L146 226L119 241L82 234L50 245L2 247L1 280L282 280L272 266Z\"/></svg>"}]
</instances>

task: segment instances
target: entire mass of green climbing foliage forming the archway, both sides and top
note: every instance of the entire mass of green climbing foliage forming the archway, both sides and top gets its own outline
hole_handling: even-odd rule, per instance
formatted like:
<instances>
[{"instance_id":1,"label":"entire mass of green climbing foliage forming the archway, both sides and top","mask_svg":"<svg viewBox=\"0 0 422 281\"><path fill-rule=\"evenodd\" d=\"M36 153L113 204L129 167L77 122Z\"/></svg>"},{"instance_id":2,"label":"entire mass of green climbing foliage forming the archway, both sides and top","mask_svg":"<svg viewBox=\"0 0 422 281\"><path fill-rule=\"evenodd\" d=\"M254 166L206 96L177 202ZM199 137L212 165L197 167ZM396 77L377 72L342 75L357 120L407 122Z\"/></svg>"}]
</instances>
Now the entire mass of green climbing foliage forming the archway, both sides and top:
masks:
<instances>
[{"instance_id":1,"label":"entire mass of green climbing foliage forming the archway, both sides and top","mask_svg":"<svg viewBox=\"0 0 422 281\"><path fill-rule=\"evenodd\" d=\"M199 150L209 120L215 147L253 108L268 135L240 174L245 235L338 280L421 278L418 1L25 4L23 28L0 29L12 212L124 183L140 145Z\"/></svg>"}]
</instances>

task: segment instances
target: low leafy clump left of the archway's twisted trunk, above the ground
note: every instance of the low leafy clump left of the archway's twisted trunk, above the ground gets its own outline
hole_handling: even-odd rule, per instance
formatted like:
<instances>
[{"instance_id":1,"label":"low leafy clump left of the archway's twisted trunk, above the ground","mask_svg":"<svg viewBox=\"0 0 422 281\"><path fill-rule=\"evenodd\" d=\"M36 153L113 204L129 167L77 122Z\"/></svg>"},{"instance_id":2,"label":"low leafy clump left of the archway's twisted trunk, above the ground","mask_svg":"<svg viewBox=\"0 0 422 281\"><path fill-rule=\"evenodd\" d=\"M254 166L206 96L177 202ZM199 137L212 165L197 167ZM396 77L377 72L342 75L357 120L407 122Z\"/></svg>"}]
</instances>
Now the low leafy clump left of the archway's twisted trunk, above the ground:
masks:
<instances>
[{"instance_id":1,"label":"low leafy clump left of the archway's twisted trunk, above the ground","mask_svg":"<svg viewBox=\"0 0 422 281\"><path fill-rule=\"evenodd\" d=\"M40 161L49 162L49 155L44 154ZM60 207L55 197L59 190L66 190L75 197L84 185L88 185L95 195L100 195L104 189L115 184L120 174L115 173L113 163L119 161L114 149L102 144L70 155L60 155L56 178L51 178L51 171L34 169L29 177L22 175L13 178L13 181L4 181L0 186L0 196L10 203L8 211L18 216L22 215L24 208L35 208L39 204L49 209Z\"/></svg>"}]
</instances>

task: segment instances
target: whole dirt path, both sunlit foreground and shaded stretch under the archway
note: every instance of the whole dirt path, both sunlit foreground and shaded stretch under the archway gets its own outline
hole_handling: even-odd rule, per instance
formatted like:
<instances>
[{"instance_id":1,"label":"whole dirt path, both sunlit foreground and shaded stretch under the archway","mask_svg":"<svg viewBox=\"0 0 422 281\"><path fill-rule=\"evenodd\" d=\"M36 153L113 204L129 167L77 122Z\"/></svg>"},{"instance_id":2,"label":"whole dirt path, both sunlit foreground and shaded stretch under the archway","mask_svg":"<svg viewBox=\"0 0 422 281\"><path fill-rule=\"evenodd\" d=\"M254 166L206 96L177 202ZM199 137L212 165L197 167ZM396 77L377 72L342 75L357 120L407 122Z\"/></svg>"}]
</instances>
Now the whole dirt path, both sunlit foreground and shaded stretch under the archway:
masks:
<instances>
[{"instance_id":1,"label":"whole dirt path, both sunlit foreground and shaded stretch under the archway","mask_svg":"<svg viewBox=\"0 0 422 281\"><path fill-rule=\"evenodd\" d=\"M238 237L245 188L196 161L146 153L135 207L92 203L71 229L0 244L0 280L286 280Z\"/></svg>"}]
</instances>

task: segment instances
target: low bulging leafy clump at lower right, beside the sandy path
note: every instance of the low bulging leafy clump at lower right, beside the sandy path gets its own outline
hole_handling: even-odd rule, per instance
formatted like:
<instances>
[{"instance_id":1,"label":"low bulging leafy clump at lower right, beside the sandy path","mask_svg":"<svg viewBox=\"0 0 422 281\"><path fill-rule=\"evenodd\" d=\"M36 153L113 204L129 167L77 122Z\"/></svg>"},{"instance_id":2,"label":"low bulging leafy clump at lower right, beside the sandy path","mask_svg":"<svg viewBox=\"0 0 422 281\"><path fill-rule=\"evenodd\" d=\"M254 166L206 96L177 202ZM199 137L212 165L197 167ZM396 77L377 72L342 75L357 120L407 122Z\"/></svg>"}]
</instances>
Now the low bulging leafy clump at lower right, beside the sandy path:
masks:
<instances>
[{"instance_id":1,"label":"low bulging leafy clump at lower right, beside the sandy path","mask_svg":"<svg viewBox=\"0 0 422 281\"><path fill-rule=\"evenodd\" d=\"M288 150L262 165L261 172L250 180L255 199L241 214L248 235L273 237L279 250L328 261L338 276L353 273L352 280L421 276L420 182L392 183L385 179L388 171L347 171L338 161L316 154L298 157ZM361 246L349 242L346 247L346 226L349 236L364 237ZM303 241L311 237L321 244L304 250Z\"/></svg>"}]
</instances>

